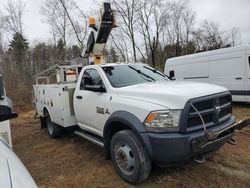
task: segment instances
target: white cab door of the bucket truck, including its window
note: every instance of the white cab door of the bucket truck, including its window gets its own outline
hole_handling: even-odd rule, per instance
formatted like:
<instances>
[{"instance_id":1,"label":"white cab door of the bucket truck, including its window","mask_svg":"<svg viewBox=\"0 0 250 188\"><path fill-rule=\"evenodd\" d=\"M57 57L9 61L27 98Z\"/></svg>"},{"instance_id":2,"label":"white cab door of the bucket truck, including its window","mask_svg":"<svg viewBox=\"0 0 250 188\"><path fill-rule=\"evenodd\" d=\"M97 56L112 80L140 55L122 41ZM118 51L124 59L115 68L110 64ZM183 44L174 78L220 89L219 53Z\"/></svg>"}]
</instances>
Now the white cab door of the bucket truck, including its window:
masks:
<instances>
[{"instance_id":1,"label":"white cab door of the bucket truck, including its window","mask_svg":"<svg viewBox=\"0 0 250 188\"><path fill-rule=\"evenodd\" d=\"M84 77L89 77L90 82L85 83ZM94 92L87 90L86 85L103 85L99 72L94 68L86 69L81 78L80 88L76 88L74 94L74 109L79 126L87 131L94 132L102 136L103 127L106 122L106 101L108 100L107 92Z\"/></svg>"}]
</instances>

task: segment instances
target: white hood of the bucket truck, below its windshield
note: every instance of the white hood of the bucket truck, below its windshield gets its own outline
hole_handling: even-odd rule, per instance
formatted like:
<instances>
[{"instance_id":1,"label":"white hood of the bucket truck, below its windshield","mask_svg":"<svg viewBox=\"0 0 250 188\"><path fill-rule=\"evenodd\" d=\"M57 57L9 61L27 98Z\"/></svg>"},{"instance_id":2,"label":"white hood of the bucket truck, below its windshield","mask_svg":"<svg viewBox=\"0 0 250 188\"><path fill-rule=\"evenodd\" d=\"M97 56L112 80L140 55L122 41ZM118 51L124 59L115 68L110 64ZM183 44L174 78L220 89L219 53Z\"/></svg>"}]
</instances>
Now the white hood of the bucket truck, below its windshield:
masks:
<instances>
[{"instance_id":1,"label":"white hood of the bucket truck, below its windshield","mask_svg":"<svg viewBox=\"0 0 250 188\"><path fill-rule=\"evenodd\" d=\"M147 82L118 90L120 97L143 100L163 108L183 109L189 99L228 91L211 84L186 81Z\"/></svg>"}]
</instances>

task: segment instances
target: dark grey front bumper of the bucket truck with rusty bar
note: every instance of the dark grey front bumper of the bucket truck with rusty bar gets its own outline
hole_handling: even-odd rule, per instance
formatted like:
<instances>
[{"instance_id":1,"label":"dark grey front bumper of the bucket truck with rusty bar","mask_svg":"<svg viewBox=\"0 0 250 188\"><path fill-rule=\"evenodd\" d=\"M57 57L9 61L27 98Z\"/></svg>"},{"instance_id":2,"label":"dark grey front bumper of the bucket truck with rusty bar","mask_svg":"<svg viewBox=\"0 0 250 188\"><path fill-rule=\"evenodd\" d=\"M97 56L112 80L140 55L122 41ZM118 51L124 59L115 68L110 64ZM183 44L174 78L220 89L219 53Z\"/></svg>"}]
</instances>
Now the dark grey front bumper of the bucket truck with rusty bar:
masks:
<instances>
[{"instance_id":1,"label":"dark grey front bumper of the bucket truck with rusty bar","mask_svg":"<svg viewBox=\"0 0 250 188\"><path fill-rule=\"evenodd\" d=\"M187 163L196 157L207 157L222 147L234 135L234 129L241 129L250 120L235 123L231 117L226 123L204 131L181 133L140 133L140 136L154 162L159 165ZM212 138L212 139L211 139Z\"/></svg>"}]
</instances>

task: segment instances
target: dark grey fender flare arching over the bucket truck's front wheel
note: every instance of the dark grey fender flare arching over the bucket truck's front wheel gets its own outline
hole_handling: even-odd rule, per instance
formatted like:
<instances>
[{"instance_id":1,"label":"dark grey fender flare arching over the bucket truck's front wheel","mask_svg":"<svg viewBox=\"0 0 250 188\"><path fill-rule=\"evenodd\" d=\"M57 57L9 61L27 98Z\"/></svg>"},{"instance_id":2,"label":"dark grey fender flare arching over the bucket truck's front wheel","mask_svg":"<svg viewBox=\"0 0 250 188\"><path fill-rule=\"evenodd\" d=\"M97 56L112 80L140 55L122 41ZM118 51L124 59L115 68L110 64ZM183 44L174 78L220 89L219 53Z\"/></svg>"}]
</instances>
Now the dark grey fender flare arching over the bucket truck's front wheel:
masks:
<instances>
[{"instance_id":1,"label":"dark grey fender flare arching over the bucket truck's front wheel","mask_svg":"<svg viewBox=\"0 0 250 188\"><path fill-rule=\"evenodd\" d=\"M114 123L121 123L123 127L129 128L134 132L138 133L140 137L140 133L147 132L146 128L142 124L142 122L132 113L126 111L116 111L114 112L109 119L106 121L104 129L103 129L103 140L104 140L104 150L106 159L110 159L110 143L112 138L112 128ZM123 127L119 127L117 125L117 130L119 131L124 129Z\"/></svg>"}]
</instances>

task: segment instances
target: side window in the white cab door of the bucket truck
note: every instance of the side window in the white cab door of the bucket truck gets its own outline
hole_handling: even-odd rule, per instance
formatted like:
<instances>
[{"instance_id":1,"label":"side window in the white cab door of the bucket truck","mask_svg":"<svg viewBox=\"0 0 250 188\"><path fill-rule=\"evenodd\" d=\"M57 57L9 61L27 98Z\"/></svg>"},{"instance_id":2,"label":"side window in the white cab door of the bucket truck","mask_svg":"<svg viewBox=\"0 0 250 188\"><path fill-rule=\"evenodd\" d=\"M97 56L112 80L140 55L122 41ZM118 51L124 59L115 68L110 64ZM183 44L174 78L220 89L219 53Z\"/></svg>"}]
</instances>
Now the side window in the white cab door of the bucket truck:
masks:
<instances>
[{"instance_id":1,"label":"side window in the white cab door of the bucket truck","mask_svg":"<svg viewBox=\"0 0 250 188\"><path fill-rule=\"evenodd\" d=\"M84 71L80 84L80 90L85 90L86 85L92 85L92 86L103 85L102 78L97 70L86 69Z\"/></svg>"}]
</instances>

